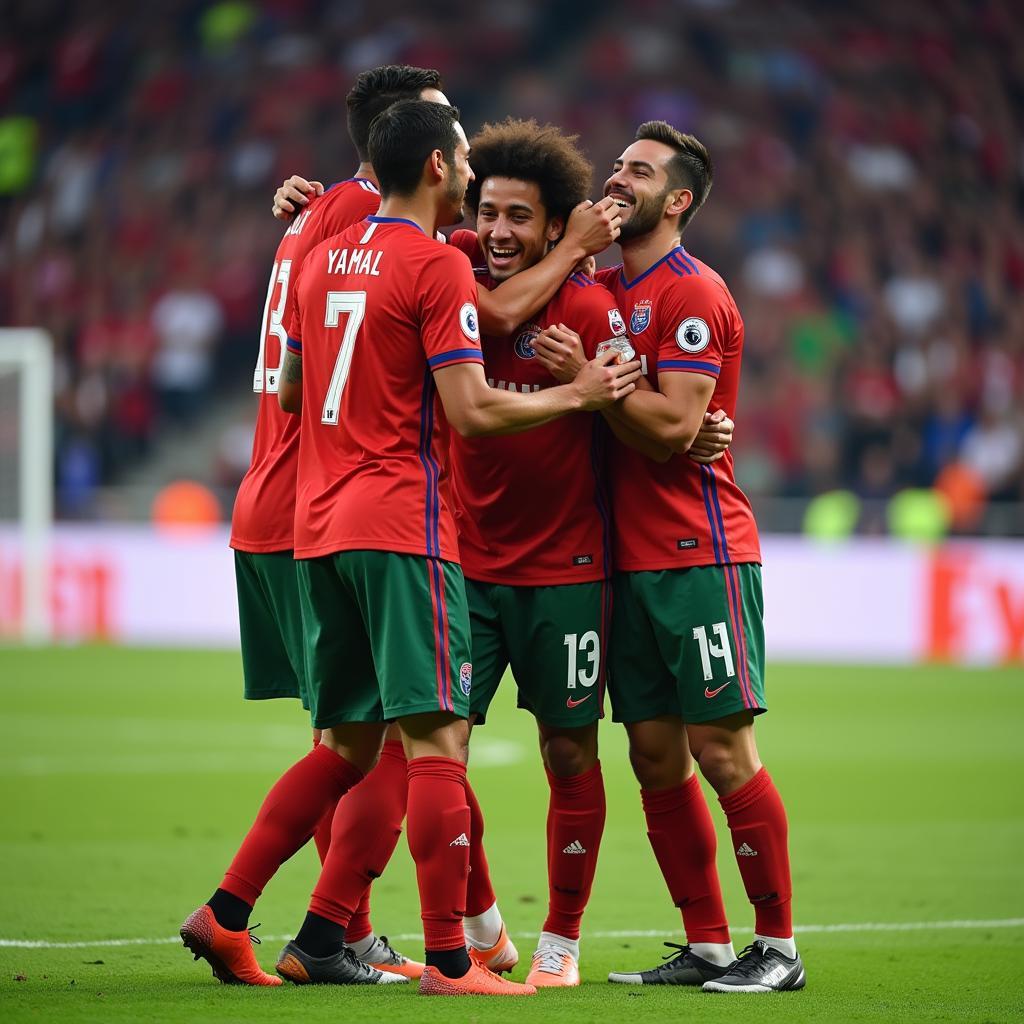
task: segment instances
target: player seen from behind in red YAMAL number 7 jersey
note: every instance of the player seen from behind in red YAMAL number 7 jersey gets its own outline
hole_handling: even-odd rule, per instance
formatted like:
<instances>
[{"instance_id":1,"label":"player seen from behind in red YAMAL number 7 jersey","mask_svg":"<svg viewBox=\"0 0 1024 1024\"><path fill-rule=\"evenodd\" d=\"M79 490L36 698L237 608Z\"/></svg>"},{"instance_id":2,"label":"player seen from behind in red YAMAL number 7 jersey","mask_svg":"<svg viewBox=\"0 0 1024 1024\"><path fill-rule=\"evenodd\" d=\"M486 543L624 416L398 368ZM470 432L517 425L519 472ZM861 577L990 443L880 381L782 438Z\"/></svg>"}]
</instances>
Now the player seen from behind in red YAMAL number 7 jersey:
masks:
<instances>
[{"instance_id":1,"label":"player seen from behind in red YAMAL number 7 jersey","mask_svg":"<svg viewBox=\"0 0 1024 1024\"><path fill-rule=\"evenodd\" d=\"M572 383L531 394L487 386L469 264L434 240L462 216L468 143L447 106L394 104L374 122L379 214L306 257L293 288L282 402L301 380L295 554L321 779L350 788L384 721L409 757L408 828L420 888L424 994L531 994L467 951L466 716L472 684L466 596L447 472L447 424L507 433L631 393L636 362L611 353ZM301 354L300 354L301 353ZM438 400L439 399L439 400ZM292 836L292 844L301 842ZM309 912L278 971L346 981L349 874L333 837Z\"/></svg>"}]
</instances>

